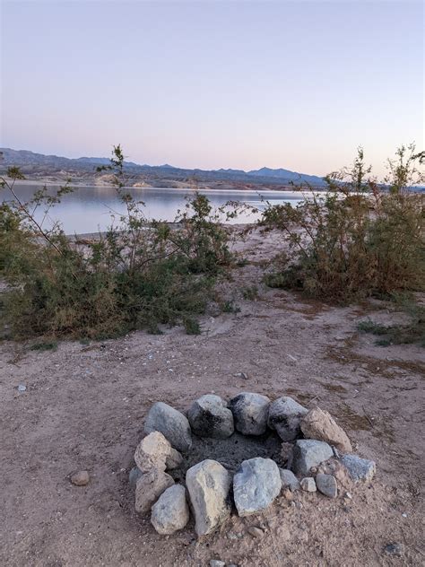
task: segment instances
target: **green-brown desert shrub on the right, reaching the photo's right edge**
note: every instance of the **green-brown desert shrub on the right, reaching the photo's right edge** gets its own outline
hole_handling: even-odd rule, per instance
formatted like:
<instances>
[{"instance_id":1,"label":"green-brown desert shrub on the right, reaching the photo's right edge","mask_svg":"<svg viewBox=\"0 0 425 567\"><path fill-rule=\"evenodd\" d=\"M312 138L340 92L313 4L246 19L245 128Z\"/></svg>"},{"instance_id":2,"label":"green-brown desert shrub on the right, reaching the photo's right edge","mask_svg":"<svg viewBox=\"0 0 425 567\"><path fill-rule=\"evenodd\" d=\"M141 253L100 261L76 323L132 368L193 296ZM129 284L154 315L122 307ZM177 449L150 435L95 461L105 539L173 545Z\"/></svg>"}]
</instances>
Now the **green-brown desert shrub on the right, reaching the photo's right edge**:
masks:
<instances>
[{"instance_id":1,"label":"green-brown desert shrub on the right, reaching the photo's right edge","mask_svg":"<svg viewBox=\"0 0 425 567\"><path fill-rule=\"evenodd\" d=\"M283 246L266 283L341 303L423 290L425 200L410 190L423 180L422 160L402 147L378 185L360 149L350 170L325 178L325 191L295 207L268 205L260 224L281 231Z\"/></svg>"}]
</instances>

